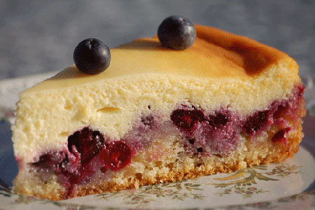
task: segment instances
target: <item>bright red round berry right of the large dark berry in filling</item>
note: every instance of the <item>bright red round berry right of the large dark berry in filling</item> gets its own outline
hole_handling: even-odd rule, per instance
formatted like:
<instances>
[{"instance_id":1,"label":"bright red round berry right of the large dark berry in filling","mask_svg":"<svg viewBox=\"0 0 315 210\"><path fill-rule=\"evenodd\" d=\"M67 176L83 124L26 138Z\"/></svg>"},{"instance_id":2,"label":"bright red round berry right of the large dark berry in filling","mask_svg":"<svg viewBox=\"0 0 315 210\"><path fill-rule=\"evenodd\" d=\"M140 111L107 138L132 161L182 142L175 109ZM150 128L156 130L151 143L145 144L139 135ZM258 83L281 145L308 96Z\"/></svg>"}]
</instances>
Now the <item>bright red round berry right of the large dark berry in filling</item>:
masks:
<instances>
[{"instance_id":1,"label":"bright red round berry right of the large dark berry in filling","mask_svg":"<svg viewBox=\"0 0 315 210\"><path fill-rule=\"evenodd\" d=\"M106 149L100 155L104 165L116 172L130 164L132 154L124 141L113 141L106 144Z\"/></svg>"}]
</instances>

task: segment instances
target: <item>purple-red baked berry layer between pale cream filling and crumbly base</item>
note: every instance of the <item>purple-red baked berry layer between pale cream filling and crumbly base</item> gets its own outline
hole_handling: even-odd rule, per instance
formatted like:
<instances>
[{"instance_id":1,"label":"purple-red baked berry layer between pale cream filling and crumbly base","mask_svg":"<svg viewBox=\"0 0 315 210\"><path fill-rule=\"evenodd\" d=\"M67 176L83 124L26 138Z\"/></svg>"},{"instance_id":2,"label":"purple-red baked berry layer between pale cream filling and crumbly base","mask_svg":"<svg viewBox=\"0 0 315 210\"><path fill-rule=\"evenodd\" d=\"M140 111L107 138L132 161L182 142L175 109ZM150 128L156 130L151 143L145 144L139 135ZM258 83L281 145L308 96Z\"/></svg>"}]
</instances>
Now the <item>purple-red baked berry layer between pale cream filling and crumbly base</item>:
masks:
<instances>
[{"instance_id":1,"label":"purple-red baked berry layer between pale cream filling and crumbly base","mask_svg":"<svg viewBox=\"0 0 315 210\"><path fill-rule=\"evenodd\" d=\"M59 183L68 189L67 195L70 195L76 186L99 181L109 172L118 172L130 165L132 158L153 144L161 134L168 137L176 133L181 139L184 155L192 158L228 156L237 151L244 141L241 139L255 141L259 134L271 127L274 130L271 142L287 145L286 135L296 129L290 122L299 118L303 91L304 87L295 87L289 99L275 101L267 109L250 116L240 116L227 107L209 111L197 106L179 105L169 120L162 121L158 111L153 111L151 115L141 116L121 139L109 139L90 126L83 127L68 137L63 151L48 151L30 166L40 174L57 175ZM156 156L152 161L158 160Z\"/></svg>"}]
</instances>

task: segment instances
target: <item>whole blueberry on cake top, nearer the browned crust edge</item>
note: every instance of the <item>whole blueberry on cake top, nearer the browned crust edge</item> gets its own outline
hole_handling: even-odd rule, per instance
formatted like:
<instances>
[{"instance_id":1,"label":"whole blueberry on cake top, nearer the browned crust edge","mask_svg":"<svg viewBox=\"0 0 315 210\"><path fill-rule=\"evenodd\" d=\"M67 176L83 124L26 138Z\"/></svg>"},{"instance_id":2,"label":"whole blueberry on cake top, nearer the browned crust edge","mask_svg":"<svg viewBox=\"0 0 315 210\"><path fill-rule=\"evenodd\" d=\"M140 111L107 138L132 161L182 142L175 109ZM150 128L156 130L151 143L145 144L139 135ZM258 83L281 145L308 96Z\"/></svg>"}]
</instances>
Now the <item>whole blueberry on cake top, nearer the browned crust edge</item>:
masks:
<instances>
[{"instance_id":1,"label":"whole blueberry on cake top, nearer the browned crust edge","mask_svg":"<svg viewBox=\"0 0 315 210\"><path fill-rule=\"evenodd\" d=\"M195 42L196 29L187 18L173 15L161 23L158 28L158 38L166 48L185 50Z\"/></svg>"}]
</instances>

